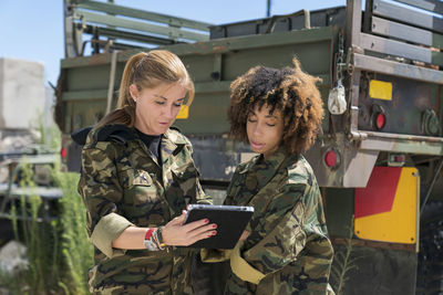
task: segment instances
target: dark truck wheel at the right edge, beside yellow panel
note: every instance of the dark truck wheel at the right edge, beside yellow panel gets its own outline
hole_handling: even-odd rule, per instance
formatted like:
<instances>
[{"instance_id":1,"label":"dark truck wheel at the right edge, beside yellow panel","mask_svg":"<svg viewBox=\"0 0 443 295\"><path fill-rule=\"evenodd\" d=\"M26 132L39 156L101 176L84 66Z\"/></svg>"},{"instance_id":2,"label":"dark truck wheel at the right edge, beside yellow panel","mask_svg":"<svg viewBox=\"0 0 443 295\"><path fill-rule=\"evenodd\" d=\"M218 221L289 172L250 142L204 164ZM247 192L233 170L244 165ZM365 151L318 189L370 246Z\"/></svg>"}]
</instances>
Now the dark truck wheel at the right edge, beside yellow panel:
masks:
<instances>
[{"instance_id":1,"label":"dark truck wheel at the right edge, beside yellow panel","mask_svg":"<svg viewBox=\"0 0 443 295\"><path fill-rule=\"evenodd\" d=\"M443 201L429 202L420 222L416 294L443 292Z\"/></svg>"}]
</instances>

